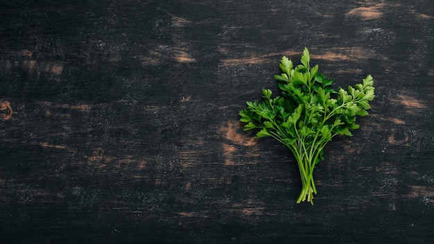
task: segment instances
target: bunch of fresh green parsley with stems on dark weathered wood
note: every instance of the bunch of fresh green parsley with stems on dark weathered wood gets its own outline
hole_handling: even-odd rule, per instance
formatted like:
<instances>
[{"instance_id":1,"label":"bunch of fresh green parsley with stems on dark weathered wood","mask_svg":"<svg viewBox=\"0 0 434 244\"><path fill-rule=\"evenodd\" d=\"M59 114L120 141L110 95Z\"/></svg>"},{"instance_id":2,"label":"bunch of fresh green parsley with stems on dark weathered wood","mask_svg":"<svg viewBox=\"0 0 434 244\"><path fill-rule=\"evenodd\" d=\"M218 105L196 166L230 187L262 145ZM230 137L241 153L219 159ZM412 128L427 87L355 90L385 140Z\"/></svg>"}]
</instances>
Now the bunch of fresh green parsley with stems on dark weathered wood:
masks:
<instances>
[{"instance_id":1,"label":"bunch of fresh green parsley with stems on dark weathered wood","mask_svg":"<svg viewBox=\"0 0 434 244\"><path fill-rule=\"evenodd\" d=\"M302 177L302 192L297 203L313 204L317 193L313 168L322 161L327 142L338 134L352 136L358 129L356 116L366 116L369 102L374 99L374 80L367 76L360 84L347 90L331 88L333 80L311 67L310 55L304 49L301 64L281 58L283 73L276 75L281 96L272 98L270 89L262 89L263 101L247 102L239 112L244 130L257 130L256 137L273 137L287 146L297 159Z\"/></svg>"}]
</instances>

